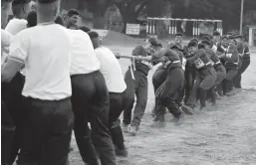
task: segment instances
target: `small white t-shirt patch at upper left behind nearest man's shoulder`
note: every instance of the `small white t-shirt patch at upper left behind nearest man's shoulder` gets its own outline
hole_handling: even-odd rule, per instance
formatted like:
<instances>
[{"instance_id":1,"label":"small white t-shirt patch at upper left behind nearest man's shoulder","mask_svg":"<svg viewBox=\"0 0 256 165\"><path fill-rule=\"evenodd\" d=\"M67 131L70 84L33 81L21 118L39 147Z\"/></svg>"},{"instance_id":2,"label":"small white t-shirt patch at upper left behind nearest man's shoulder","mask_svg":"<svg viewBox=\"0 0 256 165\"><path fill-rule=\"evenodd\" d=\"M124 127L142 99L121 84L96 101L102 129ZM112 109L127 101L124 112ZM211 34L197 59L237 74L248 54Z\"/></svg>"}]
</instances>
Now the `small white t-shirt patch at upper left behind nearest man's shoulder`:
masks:
<instances>
[{"instance_id":1,"label":"small white t-shirt patch at upper left behind nearest man's shoulder","mask_svg":"<svg viewBox=\"0 0 256 165\"><path fill-rule=\"evenodd\" d=\"M13 18L7 24L5 30L11 33L13 36L17 35L22 30L27 29L27 20Z\"/></svg>"}]
</instances>

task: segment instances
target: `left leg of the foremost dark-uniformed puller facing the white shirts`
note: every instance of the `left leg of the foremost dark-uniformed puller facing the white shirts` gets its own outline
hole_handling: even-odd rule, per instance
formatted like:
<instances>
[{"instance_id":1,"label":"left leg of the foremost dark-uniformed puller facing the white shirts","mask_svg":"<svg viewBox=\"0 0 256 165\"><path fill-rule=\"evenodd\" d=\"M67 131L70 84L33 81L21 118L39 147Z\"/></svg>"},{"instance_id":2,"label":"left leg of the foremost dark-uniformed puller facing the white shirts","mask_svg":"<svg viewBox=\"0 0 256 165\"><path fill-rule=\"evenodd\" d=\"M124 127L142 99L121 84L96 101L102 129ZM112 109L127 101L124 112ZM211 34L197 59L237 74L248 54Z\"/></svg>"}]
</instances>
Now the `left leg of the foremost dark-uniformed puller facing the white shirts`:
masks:
<instances>
[{"instance_id":1,"label":"left leg of the foremost dark-uniformed puller facing the white shirts","mask_svg":"<svg viewBox=\"0 0 256 165\"><path fill-rule=\"evenodd\" d=\"M124 120L123 122L128 125L131 120L131 110L134 103L134 94L135 94L135 81L132 80L130 71L128 70L125 75L125 82L127 83L127 100L124 108Z\"/></svg>"}]
</instances>

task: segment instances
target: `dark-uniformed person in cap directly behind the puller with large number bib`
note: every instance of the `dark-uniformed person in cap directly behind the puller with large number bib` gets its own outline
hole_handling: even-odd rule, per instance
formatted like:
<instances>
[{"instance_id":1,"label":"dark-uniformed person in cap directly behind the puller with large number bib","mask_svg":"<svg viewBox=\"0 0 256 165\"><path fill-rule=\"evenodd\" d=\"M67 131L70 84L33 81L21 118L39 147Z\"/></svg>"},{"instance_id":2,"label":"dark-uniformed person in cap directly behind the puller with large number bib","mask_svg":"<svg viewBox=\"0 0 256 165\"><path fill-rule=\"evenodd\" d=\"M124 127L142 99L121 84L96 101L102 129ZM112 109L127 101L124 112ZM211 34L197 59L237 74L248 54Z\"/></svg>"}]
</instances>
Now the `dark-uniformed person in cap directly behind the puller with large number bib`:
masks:
<instances>
[{"instance_id":1,"label":"dark-uniformed person in cap directly behind the puller with large number bib","mask_svg":"<svg viewBox=\"0 0 256 165\"><path fill-rule=\"evenodd\" d=\"M211 97L212 106L215 106L216 105L216 97L217 97L216 86L219 85L220 83L222 83L222 81L226 78L226 70L223 67L223 65L221 64L218 56L215 54L215 52L213 50L211 50L211 48L210 48L211 43L207 40L202 40L201 44L204 45L206 55L209 57L210 63L214 67L216 76L217 76L217 79L216 79L214 85L210 89L210 97Z\"/></svg>"}]
</instances>

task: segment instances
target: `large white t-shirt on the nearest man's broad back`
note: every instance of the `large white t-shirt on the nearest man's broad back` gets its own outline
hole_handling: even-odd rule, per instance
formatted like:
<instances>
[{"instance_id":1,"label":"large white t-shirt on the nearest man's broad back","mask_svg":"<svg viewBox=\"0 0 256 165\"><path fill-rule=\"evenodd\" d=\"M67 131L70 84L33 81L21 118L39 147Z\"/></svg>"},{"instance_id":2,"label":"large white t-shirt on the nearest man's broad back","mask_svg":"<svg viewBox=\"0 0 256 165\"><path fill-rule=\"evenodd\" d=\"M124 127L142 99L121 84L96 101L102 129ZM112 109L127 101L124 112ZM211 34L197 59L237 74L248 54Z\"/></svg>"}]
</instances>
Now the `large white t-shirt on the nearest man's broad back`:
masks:
<instances>
[{"instance_id":1,"label":"large white t-shirt on the nearest man's broad back","mask_svg":"<svg viewBox=\"0 0 256 165\"><path fill-rule=\"evenodd\" d=\"M22 94L43 100L71 96L71 40L61 25L38 25L17 34L9 58L25 64Z\"/></svg>"}]
</instances>

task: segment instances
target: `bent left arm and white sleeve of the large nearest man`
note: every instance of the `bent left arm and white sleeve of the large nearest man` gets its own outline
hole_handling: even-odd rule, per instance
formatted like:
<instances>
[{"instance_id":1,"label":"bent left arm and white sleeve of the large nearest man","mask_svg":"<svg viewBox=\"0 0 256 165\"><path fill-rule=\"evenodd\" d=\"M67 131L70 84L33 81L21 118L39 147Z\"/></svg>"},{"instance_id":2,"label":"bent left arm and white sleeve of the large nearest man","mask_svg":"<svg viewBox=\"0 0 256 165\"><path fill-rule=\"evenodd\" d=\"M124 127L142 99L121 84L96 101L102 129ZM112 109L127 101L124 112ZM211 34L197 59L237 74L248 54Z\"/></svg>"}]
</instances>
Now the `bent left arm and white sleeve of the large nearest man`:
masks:
<instances>
[{"instance_id":1,"label":"bent left arm and white sleeve of the large nearest man","mask_svg":"<svg viewBox=\"0 0 256 165\"><path fill-rule=\"evenodd\" d=\"M29 40L25 35L18 34L13 38L10 45L10 55L7 62L2 66L2 82L10 82L15 75L24 67L28 56Z\"/></svg>"}]
</instances>

